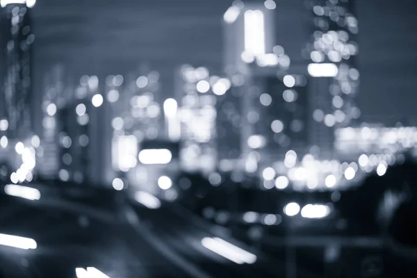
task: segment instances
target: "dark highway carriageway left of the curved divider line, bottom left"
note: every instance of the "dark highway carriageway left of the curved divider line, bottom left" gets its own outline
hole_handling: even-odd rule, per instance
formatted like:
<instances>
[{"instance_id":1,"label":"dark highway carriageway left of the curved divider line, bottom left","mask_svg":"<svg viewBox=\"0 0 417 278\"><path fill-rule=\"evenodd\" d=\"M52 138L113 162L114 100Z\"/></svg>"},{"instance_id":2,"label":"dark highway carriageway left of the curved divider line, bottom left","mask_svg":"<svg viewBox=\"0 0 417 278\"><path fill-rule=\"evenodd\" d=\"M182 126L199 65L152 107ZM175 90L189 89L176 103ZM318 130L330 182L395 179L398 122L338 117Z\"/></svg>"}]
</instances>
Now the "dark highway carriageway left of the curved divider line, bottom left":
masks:
<instances>
[{"instance_id":1,"label":"dark highway carriageway left of the curved divider line, bottom left","mask_svg":"<svg viewBox=\"0 0 417 278\"><path fill-rule=\"evenodd\" d=\"M0 277L74 278L79 267L95 267L111 278L190 277L117 213L50 201L0 195L0 234L37 243L35 250L0 246Z\"/></svg>"}]
</instances>

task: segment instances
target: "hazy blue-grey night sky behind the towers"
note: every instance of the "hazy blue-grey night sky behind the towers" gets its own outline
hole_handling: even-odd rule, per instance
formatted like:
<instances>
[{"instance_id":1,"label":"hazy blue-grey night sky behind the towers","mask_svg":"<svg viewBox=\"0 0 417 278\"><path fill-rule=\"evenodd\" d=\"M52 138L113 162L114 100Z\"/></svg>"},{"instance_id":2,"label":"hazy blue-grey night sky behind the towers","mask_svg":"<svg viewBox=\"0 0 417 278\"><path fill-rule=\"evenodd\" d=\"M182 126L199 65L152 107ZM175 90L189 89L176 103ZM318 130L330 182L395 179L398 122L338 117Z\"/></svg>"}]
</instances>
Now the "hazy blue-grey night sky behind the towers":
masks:
<instances>
[{"instance_id":1,"label":"hazy blue-grey night sky behind the towers","mask_svg":"<svg viewBox=\"0 0 417 278\"><path fill-rule=\"evenodd\" d=\"M277 44L297 55L306 29L302 0L275 0L282 22ZM228 0L38 0L35 84L61 62L70 75L126 74L140 63L161 72L170 96L173 70L190 63L222 69L222 15ZM416 0L358 0L358 99L363 120L417 120ZM308 28L308 26L305 26ZM301 32L300 32L301 31ZM304 32L304 33L303 33Z\"/></svg>"}]
</instances>

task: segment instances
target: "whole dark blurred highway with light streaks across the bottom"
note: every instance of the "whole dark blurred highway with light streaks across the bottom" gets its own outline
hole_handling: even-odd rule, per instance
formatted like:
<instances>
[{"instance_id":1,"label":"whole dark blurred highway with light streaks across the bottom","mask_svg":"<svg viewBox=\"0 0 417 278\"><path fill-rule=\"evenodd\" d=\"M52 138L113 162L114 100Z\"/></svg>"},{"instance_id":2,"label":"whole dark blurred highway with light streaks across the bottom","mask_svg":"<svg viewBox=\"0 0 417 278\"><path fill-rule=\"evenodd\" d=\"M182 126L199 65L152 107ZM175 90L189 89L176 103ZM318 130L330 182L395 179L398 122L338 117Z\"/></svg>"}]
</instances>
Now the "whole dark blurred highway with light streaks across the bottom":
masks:
<instances>
[{"instance_id":1,"label":"whole dark blurred highway with light streaks across the bottom","mask_svg":"<svg viewBox=\"0 0 417 278\"><path fill-rule=\"evenodd\" d=\"M232 238L228 229L206 222L177 204L162 202L158 209L149 209L127 198L124 191L31 186L38 188L40 199L31 201L6 195L0 186L2 278L74 278L76 268L88 267L97 268L111 278L336 278L359 273L325 276L329 272L327 268L334 268L332 273L338 270L334 263L327 268L320 265L329 256L321 245L334 242L331 238L294 239L291 245L297 246L292 250L297 253L291 262L293 259L288 254L292 253L285 248L286 240L272 238L261 245L242 243ZM1 234L33 238L37 247L19 250L2 246ZM250 252L256 260L235 263L230 256L226 259L204 247L204 239L214 238L223 238L240 248L239 254ZM381 258L375 249L365 253L374 258L377 255L377 260ZM343 252L340 256L343 265L354 263L361 268L358 254L363 252L358 253L354 246ZM350 260L352 263L347 263ZM294 265L296 275L291 276ZM361 277L358 275L355 277Z\"/></svg>"}]
</instances>

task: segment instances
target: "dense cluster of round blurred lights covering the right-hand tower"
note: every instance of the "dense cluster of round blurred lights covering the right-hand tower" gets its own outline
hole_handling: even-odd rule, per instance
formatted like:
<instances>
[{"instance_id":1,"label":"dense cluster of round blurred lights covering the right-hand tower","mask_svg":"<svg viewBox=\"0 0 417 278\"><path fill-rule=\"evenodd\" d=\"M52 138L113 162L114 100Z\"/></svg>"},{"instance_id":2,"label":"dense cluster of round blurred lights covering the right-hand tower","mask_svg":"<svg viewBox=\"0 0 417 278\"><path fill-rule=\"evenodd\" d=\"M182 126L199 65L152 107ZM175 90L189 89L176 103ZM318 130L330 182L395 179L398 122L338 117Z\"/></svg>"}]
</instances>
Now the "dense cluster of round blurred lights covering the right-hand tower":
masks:
<instances>
[{"instance_id":1,"label":"dense cluster of round blurred lights covering the right-hand tower","mask_svg":"<svg viewBox=\"0 0 417 278\"><path fill-rule=\"evenodd\" d=\"M313 62L309 64L308 72L313 77L334 79L329 87L329 94L333 96L332 110L316 110L313 117L329 127L347 126L360 116L353 99L359 87L359 71L351 60L358 54L357 42L353 40L358 31L357 19L343 1L327 6L313 1L311 7L316 31L307 46Z\"/></svg>"}]
</instances>

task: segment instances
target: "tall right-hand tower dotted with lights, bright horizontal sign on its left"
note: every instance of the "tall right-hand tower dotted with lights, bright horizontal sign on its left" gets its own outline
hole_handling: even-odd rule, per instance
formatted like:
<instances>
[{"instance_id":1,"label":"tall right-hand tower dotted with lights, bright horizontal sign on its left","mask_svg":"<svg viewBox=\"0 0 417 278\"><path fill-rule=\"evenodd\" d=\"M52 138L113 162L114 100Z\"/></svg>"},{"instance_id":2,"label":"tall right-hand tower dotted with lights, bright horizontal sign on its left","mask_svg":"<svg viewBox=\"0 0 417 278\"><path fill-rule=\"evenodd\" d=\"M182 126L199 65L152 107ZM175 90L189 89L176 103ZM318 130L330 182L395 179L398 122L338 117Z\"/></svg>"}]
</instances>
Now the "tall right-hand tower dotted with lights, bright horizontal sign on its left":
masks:
<instances>
[{"instance_id":1,"label":"tall right-hand tower dotted with lights, bright horizontal sign on its left","mask_svg":"<svg viewBox=\"0 0 417 278\"><path fill-rule=\"evenodd\" d=\"M329 156L334 129L355 124L360 117L355 97L359 92L357 69L358 21L354 0L306 1L311 19L311 40L304 56L311 62L311 142Z\"/></svg>"}]
</instances>

